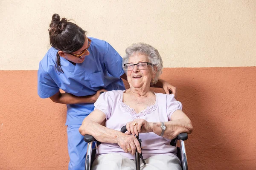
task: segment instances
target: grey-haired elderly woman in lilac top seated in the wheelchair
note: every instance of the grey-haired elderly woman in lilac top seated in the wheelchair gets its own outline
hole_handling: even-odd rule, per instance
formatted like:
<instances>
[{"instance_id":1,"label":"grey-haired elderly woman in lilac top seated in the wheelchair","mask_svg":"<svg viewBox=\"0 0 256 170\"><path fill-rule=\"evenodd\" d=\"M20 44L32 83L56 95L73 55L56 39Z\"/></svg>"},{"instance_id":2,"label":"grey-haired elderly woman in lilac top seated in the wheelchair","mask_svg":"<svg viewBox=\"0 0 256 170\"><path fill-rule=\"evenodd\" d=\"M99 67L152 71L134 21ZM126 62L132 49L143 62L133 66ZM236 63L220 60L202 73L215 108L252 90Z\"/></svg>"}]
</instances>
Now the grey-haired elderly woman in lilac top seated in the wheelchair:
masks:
<instances>
[{"instance_id":1,"label":"grey-haired elderly woman in lilac top seated in the wheelchair","mask_svg":"<svg viewBox=\"0 0 256 170\"><path fill-rule=\"evenodd\" d=\"M93 162L95 170L135 169L137 148L146 164L143 170L181 170L176 147L170 145L179 133L192 133L190 119L173 94L159 94L150 90L163 68L157 49L145 43L126 48L123 68L130 88L108 91L99 96L95 109L87 116L79 131L102 142ZM105 126L101 125L105 122ZM127 133L121 133L122 126ZM135 138L140 134L142 146Z\"/></svg>"}]
</instances>

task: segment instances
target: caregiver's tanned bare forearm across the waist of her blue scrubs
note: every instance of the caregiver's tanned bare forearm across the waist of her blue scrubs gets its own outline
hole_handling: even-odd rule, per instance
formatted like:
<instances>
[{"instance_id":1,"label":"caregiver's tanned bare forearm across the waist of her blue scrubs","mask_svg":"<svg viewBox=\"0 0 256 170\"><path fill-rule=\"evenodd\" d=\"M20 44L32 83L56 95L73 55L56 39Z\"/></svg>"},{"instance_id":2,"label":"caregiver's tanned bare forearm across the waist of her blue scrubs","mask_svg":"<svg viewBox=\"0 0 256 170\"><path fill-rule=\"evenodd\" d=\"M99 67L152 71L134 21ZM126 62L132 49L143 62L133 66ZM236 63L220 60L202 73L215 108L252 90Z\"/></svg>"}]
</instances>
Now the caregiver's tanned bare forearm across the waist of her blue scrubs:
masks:
<instances>
[{"instance_id":1,"label":"caregiver's tanned bare forearm across the waist of her blue scrubs","mask_svg":"<svg viewBox=\"0 0 256 170\"><path fill-rule=\"evenodd\" d=\"M69 93L59 93L54 97L50 97L53 102L61 103L61 104L80 104L80 103L94 103L95 97L94 95L90 96L74 96Z\"/></svg>"}]
</instances>

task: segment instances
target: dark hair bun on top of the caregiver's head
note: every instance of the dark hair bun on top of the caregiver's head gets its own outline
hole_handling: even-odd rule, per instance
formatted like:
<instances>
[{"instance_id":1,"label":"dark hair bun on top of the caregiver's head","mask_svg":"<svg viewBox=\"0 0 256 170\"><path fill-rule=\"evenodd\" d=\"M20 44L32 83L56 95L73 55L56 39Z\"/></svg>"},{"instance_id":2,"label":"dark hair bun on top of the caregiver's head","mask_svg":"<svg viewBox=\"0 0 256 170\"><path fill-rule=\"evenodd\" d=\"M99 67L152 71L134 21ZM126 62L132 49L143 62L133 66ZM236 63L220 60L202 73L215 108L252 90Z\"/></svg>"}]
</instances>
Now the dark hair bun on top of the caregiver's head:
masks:
<instances>
[{"instance_id":1,"label":"dark hair bun on top of the caregiver's head","mask_svg":"<svg viewBox=\"0 0 256 170\"><path fill-rule=\"evenodd\" d=\"M67 26L67 19L62 18L59 14L52 15L52 22L50 23L49 35L50 36L57 36L60 34Z\"/></svg>"}]
</instances>

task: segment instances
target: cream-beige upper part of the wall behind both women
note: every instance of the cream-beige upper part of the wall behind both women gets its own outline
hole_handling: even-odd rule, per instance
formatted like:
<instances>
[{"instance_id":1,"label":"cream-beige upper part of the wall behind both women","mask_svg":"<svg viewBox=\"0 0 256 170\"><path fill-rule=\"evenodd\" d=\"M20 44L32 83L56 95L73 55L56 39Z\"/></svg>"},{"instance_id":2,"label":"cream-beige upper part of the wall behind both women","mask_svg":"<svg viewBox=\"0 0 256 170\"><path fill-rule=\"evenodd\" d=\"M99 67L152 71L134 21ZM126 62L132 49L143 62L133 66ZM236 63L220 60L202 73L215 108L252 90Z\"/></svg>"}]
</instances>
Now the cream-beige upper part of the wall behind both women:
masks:
<instances>
[{"instance_id":1,"label":"cream-beige upper part of the wall behind both women","mask_svg":"<svg viewBox=\"0 0 256 170\"><path fill-rule=\"evenodd\" d=\"M0 0L0 70L37 70L52 14L123 55L156 47L164 67L256 66L256 0Z\"/></svg>"}]
</instances>

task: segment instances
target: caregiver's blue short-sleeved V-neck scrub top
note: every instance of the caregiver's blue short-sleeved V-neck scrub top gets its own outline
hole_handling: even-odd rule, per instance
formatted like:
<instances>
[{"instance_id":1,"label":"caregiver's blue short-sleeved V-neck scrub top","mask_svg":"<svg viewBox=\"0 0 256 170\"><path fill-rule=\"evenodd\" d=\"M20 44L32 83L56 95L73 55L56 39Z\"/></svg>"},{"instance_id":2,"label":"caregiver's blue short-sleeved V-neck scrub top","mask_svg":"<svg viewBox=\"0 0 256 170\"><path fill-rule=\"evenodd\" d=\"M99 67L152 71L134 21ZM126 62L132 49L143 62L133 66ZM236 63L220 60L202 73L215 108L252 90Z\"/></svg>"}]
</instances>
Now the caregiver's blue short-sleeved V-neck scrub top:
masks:
<instances>
[{"instance_id":1,"label":"caregiver's blue short-sleeved V-neck scrub top","mask_svg":"<svg viewBox=\"0 0 256 170\"><path fill-rule=\"evenodd\" d=\"M84 62L73 65L60 57L64 74L55 70L58 50L49 49L38 69L38 95L41 98L56 94L60 88L75 96L93 95L102 88L107 91L125 90L120 78L124 74L122 57L108 42L92 37L90 39L90 54ZM66 125L80 125L93 109L93 103L67 105Z\"/></svg>"}]
</instances>

